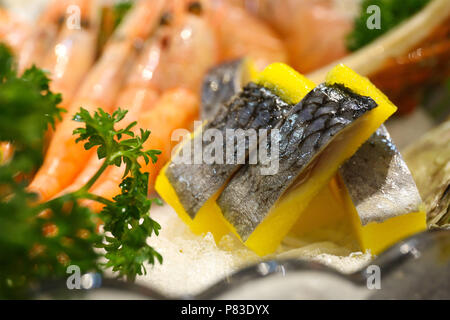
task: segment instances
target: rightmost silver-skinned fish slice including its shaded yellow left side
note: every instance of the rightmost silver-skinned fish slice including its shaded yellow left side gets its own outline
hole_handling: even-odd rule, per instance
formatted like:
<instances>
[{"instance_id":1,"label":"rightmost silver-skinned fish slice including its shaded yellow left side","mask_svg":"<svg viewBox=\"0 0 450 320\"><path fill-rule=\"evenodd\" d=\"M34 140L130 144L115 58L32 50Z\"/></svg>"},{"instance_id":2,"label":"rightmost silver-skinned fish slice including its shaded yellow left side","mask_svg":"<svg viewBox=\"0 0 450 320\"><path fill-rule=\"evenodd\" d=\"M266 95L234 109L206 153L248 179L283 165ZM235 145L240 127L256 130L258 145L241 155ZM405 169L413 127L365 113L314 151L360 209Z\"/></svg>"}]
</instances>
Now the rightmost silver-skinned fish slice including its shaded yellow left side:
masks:
<instances>
[{"instance_id":1,"label":"rightmost silver-skinned fish slice including its shaded yellow left side","mask_svg":"<svg viewBox=\"0 0 450 320\"><path fill-rule=\"evenodd\" d=\"M420 194L384 125L342 165L290 234L320 233L336 225L345 225L360 249L374 255L426 230ZM337 229L334 238L343 238Z\"/></svg>"}]
</instances>

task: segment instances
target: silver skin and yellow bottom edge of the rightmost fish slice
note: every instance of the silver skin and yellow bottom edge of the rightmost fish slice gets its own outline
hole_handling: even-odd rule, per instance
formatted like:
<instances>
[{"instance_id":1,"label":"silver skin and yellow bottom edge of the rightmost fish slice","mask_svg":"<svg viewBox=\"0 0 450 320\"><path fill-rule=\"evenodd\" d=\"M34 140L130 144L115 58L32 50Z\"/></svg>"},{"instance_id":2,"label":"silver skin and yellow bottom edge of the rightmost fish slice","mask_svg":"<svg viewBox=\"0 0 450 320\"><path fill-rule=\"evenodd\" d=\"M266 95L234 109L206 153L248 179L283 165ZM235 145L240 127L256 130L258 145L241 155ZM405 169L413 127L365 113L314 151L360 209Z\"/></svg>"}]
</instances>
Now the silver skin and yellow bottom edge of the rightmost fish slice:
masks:
<instances>
[{"instance_id":1,"label":"silver skin and yellow bottom edge of the rightmost fish slice","mask_svg":"<svg viewBox=\"0 0 450 320\"><path fill-rule=\"evenodd\" d=\"M379 254L395 242L426 230L419 191L384 126L339 174L341 196L361 249Z\"/></svg>"}]
</instances>

